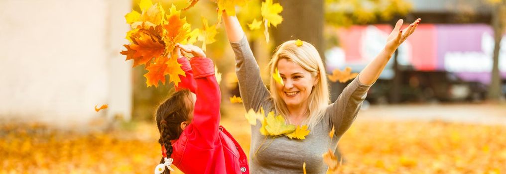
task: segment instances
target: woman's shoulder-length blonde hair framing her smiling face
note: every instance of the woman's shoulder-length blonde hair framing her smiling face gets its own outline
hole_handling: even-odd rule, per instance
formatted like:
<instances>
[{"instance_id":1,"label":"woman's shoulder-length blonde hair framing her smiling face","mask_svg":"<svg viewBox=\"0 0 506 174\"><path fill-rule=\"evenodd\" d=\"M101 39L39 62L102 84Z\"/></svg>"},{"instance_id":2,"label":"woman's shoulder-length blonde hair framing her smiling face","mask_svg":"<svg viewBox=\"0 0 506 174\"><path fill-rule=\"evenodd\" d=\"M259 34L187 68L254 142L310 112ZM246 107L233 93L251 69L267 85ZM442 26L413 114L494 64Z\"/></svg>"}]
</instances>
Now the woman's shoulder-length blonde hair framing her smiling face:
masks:
<instances>
[{"instance_id":1,"label":"woman's shoulder-length blonde hair framing her smiling face","mask_svg":"<svg viewBox=\"0 0 506 174\"><path fill-rule=\"evenodd\" d=\"M308 124L312 130L313 127L322 120L325 109L329 104L328 82L325 73L325 67L320 54L311 43L303 41L302 46L297 46L295 40L289 40L282 43L276 49L271 61L269 62L270 74L275 72L278 61L286 59L300 65L309 71L313 77L319 76L318 82L314 86L308 98L308 118L303 123ZM274 108L278 114L289 115L286 103L276 90L276 82L271 77L271 96L274 99Z\"/></svg>"}]
</instances>

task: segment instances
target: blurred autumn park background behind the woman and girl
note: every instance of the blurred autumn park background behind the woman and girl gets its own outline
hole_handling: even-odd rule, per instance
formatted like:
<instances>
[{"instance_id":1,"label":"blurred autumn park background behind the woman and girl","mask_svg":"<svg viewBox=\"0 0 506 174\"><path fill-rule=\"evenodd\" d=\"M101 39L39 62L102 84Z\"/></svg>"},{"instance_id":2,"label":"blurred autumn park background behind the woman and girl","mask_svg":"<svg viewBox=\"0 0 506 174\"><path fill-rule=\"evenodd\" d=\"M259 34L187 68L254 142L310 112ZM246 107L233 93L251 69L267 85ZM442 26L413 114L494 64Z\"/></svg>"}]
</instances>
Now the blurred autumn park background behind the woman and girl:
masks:
<instances>
[{"instance_id":1,"label":"blurred autumn park background behind the woman and girl","mask_svg":"<svg viewBox=\"0 0 506 174\"><path fill-rule=\"evenodd\" d=\"M153 113L173 84L146 87L144 67L119 54L129 43L124 15L138 3L0 1L0 173L153 171L161 158ZM422 19L341 139L341 172L506 173L506 1L274 1L283 22L270 42L246 25L261 18L261 3L247 1L237 16L267 85L267 63L283 41L312 43L328 74L360 72L398 19ZM201 28L202 17L217 22L216 7L200 0L182 16ZM222 124L247 154L245 111L229 99L239 96L234 55L218 32L206 54L222 73ZM346 84L330 82L332 101Z\"/></svg>"}]
</instances>

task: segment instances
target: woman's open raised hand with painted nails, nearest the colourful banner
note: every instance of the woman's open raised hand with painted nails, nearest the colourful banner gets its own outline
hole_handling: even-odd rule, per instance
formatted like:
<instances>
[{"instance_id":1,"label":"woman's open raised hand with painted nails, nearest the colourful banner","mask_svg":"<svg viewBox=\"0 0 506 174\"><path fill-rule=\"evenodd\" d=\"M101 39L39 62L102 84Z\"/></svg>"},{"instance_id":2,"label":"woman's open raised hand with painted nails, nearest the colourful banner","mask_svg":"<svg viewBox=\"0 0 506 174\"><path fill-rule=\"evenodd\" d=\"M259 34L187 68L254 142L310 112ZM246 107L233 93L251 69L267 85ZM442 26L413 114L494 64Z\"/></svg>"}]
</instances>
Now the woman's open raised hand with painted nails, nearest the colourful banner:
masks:
<instances>
[{"instance_id":1,"label":"woman's open raised hand with painted nails, nearest the colourful banner","mask_svg":"<svg viewBox=\"0 0 506 174\"><path fill-rule=\"evenodd\" d=\"M397 48L401 45L401 43L404 42L404 40L406 40L408 36L411 35L411 33L413 33L420 21L421 19L418 18L408 27L401 30L403 20L399 19L399 21L397 21L397 24L395 24L394 30L387 38L387 45L385 46L385 50L393 54L395 50L397 50Z\"/></svg>"}]
</instances>

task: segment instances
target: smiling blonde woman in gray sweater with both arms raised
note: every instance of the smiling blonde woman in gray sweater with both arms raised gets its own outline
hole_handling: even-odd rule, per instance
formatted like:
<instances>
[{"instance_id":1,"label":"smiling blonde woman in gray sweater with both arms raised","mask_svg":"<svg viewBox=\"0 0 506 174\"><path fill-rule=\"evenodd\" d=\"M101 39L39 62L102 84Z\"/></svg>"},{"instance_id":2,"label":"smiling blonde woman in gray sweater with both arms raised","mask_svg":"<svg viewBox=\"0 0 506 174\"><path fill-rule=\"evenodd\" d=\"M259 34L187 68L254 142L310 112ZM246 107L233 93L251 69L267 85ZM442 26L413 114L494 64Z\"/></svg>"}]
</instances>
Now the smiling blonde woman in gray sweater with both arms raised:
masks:
<instances>
[{"instance_id":1,"label":"smiling blonde woman in gray sweater with both arms raised","mask_svg":"<svg viewBox=\"0 0 506 174\"><path fill-rule=\"evenodd\" d=\"M260 76L260 69L235 16L223 15L230 45L235 53L239 90L246 110L281 114L287 123L307 124L311 133L305 140L285 136L267 138L259 132L260 123L251 126L250 170L252 173L300 173L306 163L308 173L324 173L327 166L322 154L335 148L338 140L355 120L366 92L379 77L392 54L414 31L421 19L401 30L399 20L387 39L384 50L370 62L329 105L328 84L323 62L316 49L307 42L297 46L290 40L282 43L269 66L276 69L284 84L271 78L270 92ZM335 136L328 134L335 127ZM261 148L259 148L261 147Z\"/></svg>"}]
</instances>

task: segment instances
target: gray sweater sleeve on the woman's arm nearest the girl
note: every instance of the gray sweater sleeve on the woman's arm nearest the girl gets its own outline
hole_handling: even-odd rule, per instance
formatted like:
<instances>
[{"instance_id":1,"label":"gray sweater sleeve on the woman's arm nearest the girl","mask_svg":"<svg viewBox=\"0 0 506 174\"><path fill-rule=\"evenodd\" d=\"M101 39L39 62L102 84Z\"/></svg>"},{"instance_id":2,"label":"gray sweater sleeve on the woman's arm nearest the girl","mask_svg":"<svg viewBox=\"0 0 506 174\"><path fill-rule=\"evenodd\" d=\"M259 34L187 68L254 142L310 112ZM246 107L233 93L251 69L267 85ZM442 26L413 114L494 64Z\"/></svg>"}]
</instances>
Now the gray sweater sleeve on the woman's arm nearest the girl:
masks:
<instances>
[{"instance_id":1,"label":"gray sweater sleeve on the woman's arm nearest the girl","mask_svg":"<svg viewBox=\"0 0 506 174\"><path fill-rule=\"evenodd\" d=\"M266 103L270 97L246 36L243 36L239 42L230 42L235 54L235 72L239 80L239 93L241 95L244 108L247 110L253 108L256 112ZM264 106L265 107L265 106Z\"/></svg>"}]
</instances>

